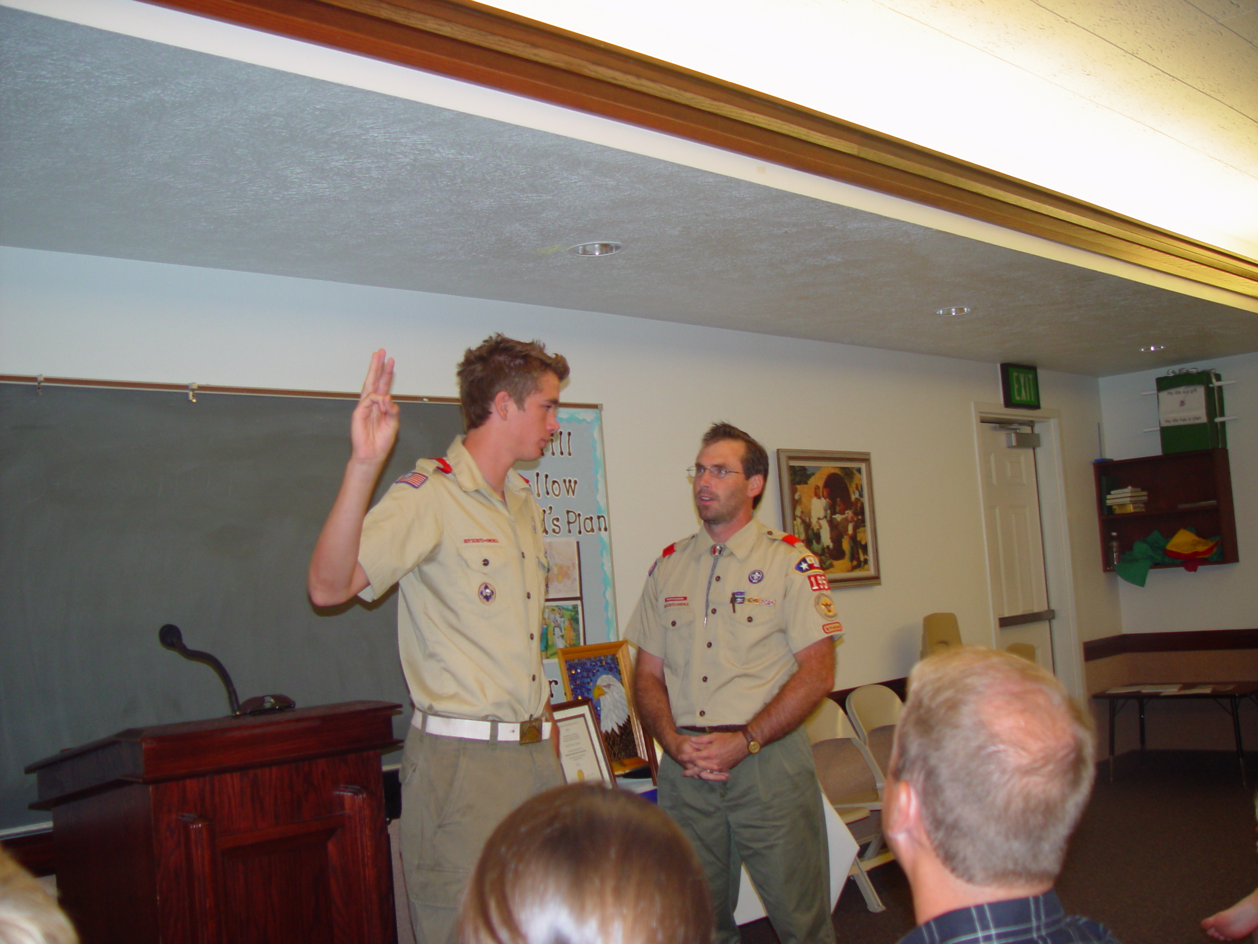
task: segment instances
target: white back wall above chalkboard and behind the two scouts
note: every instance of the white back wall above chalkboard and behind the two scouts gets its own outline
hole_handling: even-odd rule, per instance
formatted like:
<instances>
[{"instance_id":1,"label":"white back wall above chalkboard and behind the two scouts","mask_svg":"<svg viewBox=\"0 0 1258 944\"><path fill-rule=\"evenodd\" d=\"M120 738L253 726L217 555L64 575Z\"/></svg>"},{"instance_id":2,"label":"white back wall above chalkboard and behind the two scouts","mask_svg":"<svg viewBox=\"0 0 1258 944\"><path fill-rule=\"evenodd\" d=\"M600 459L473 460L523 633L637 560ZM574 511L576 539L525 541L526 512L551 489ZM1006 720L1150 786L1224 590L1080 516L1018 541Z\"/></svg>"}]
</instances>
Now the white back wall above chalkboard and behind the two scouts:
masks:
<instances>
[{"instance_id":1,"label":"white back wall above chalkboard and behind the two scouts","mask_svg":"<svg viewBox=\"0 0 1258 944\"><path fill-rule=\"evenodd\" d=\"M398 357L396 393L453 395L454 364L491 331L570 359L570 402L601 403L616 598L626 619L650 561L696 530L683 469L728 419L776 448L872 453L883 583L839 590L838 687L916 661L921 618L952 610L994 638L972 403L998 403L996 366L591 312L179 266L0 249L0 373L353 390L367 356ZM1097 381L1042 373L1060 410L1076 619L1118 632L1101 573L1091 461ZM776 476L761 510L777 526ZM304 555L306 548L294 548Z\"/></svg>"}]
</instances>

